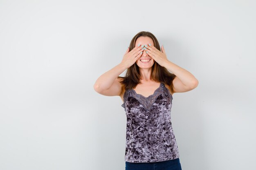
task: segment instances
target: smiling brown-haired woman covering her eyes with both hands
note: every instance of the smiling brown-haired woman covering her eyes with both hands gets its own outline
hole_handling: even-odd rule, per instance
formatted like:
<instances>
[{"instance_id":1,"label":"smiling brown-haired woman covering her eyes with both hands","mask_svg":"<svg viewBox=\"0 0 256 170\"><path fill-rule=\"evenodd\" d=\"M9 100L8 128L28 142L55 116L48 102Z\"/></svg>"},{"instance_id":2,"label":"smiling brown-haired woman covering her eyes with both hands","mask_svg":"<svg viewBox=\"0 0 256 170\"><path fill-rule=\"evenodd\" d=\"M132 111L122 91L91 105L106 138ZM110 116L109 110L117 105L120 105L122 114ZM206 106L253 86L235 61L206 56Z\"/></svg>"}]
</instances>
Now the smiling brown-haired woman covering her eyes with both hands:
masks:
<instances>
[{"instance_id":1,"label":"smiling brown-haired woman covering her eyes with both hands","mask_svg":"<svg viewBox=\"0 0 256 170\"><path fill-rule=\"evenodd\" d=\"M198 80L169 61L163 46L161 50L152 33L137 33L121 63L94 84L97 93L120 96L123 101L126 170L181 170L171 124L173 93L191 91ZM126 76L120 77L126 69Z\"/></svg>"}]
</instances>

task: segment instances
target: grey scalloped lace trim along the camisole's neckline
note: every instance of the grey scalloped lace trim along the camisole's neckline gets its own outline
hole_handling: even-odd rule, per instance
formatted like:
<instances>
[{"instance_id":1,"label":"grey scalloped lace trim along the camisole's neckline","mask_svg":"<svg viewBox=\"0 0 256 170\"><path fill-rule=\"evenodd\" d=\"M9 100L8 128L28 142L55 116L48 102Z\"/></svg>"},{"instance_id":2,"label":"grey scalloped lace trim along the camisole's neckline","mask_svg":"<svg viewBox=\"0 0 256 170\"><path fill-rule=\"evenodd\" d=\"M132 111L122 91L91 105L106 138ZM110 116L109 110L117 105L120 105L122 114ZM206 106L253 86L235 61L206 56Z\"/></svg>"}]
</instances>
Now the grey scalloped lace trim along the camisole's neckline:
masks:
<instances>
[{"instance_id":1,"label":"grey scalloped lace trim along the camisole's neckline","mask_svg":"<svg viewBox=\"0 0 256 170\"><path fill-rule=\"evenodd\" d=\"M160 86L155 90L153 95L149 95L148 97L144 97L141 94L137 94L136 91L133 89L128 89L124 92L124 103L121 106L126 110L127 98L134 97L146 110L150 110L153 104L155 103L157 97L162 94L168 95L171 98L171 100L173 99L170 91L162 82L160 83Z\"/></svg>"}]
</instances>

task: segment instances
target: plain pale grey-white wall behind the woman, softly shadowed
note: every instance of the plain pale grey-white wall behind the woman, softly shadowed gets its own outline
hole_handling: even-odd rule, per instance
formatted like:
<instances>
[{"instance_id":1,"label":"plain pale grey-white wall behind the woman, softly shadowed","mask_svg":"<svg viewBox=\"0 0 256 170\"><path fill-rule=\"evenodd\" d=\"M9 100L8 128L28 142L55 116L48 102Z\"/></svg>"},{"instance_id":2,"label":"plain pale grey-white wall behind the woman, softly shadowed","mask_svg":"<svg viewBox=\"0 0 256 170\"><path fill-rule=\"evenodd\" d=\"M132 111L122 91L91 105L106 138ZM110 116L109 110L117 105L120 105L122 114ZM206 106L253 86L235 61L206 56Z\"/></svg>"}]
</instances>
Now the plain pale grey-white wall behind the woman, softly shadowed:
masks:
<instances>
[{"instance_id":1,"label":"plain pale grey-white wall behind the woman, softly shadowed","mask_svg":"<svg viewBox=\"0 0 256 170\"><path fill-rule=\"evenodd\" d=\"M124 170L121 98L93 85L150 31L199 81L173 95L182 169L255 170L255 9L254 0L1 0L0 169Z\"/></svg>"}]
</instances>

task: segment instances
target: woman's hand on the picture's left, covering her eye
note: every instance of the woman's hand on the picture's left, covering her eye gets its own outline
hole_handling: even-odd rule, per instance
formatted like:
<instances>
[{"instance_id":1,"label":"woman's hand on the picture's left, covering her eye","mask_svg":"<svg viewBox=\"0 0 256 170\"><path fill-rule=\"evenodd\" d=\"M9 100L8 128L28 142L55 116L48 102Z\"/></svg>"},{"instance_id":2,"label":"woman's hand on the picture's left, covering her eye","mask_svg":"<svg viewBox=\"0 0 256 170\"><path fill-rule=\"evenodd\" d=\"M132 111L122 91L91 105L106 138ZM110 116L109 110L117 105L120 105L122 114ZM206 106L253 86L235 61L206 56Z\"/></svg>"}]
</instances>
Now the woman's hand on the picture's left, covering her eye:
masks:
<instances>
[{"instance_id":1,"label":"woman's hand on the picture's left, covering her eye","mask_svg":"<svg viewBox=\"0 0 256 170\"><path fill-rule=\"evenodd\" d=\"M124 64L126 68L129 68L138 60L138 58L142 55L143 51L144 48L141 48L141 45L135 46L130 52L128 47L121 63Z\"/></svg>"}]
</instances>

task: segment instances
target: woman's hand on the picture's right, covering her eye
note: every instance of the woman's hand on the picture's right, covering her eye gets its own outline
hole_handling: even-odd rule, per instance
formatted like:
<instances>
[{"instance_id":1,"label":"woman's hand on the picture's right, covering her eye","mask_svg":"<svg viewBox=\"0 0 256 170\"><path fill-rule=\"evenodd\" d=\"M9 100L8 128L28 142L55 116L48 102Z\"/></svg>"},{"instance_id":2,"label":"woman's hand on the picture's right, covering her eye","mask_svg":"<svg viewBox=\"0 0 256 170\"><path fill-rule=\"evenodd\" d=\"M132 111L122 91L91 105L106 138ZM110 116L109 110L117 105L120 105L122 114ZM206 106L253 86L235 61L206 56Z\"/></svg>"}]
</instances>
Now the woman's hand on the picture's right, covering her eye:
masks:
<instances>
[{"instance_id":1,"label":"woman's hand on the picture's right, covering her eye","mask_svg":"<svg viewBox=\"0 0 256 170\"><path fill-rule=\"evenodd\" d=\"M160 66L164 66L164 64L166 64L166 62L168 62L169 60L167 59L166 53L164 51L164 46L162 46L162 52L159 51L157 48L155 48L155 46L150 45L150 46L145 46L146 48L146 52L148 51L148 55L150 57L152 57L155 62L157 62Z\"/></svg>"}]
</instances>

